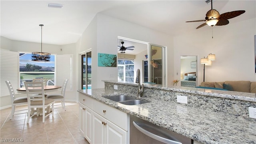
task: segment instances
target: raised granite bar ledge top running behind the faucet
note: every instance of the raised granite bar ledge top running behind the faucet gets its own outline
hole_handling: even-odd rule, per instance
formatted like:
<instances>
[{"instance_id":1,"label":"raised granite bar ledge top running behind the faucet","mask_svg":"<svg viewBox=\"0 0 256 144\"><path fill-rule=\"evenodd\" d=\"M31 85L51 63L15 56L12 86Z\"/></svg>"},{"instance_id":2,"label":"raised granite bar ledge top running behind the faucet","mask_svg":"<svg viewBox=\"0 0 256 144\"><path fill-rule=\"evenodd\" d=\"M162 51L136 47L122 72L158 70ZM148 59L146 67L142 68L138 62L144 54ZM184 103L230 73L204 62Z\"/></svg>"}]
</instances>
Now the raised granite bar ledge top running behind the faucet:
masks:
<instances>
[{"instance_id":1,"label":"raised granite bar ledge top running behind the faucet","mask_svg":"<svg viewBox=\"0 0 256 144\"><path fill-rule=\"evenodd\" d=\"M138 84L134 82L118 82L116 80L102 80L103 82L110 82L114 84L124 84L130 86L138 86ZM214 96L220 98L230 98L235 100L245 100L250 102L256 102L256 94L248 93L248 92L235 92L228 90L214 90L214 89L206 89L206 88L192 88L186 86L162 86L160 84L149 84L144 83L144 88L154 88L161 90L172 90L174 92L185 92L190 94L201 94L205 96Z\"/></svg>"}]
</instances>

